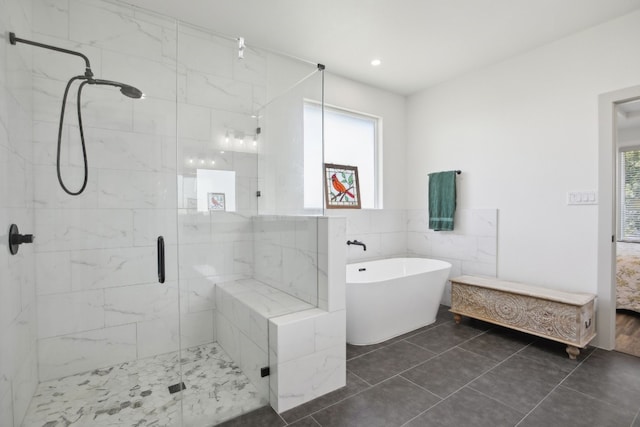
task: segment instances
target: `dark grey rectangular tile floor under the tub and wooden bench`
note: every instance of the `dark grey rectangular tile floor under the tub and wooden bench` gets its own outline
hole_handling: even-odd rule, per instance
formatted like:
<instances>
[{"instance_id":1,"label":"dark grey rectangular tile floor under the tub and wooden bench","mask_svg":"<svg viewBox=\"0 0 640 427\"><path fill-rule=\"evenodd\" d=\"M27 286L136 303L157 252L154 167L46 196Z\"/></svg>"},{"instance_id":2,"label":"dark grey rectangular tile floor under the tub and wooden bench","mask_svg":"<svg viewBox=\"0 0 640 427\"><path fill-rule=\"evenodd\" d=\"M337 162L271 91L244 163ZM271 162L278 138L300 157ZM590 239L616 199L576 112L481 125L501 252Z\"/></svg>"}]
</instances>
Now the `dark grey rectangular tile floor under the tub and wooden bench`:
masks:
<instances>
[{"instance_id":1,"label":"dark grey rectangular tile floor under the tub and wooden bench","mask_svg":"<svg viewBox=\"0 0 640 427\"><path fill-rule=\"evenodd\" d=\"M372 346L347 345L347 386L276 414L223 426L640 427L640 358L565 346L487 323L433 325Z\"/></svg>"}]
</instances>

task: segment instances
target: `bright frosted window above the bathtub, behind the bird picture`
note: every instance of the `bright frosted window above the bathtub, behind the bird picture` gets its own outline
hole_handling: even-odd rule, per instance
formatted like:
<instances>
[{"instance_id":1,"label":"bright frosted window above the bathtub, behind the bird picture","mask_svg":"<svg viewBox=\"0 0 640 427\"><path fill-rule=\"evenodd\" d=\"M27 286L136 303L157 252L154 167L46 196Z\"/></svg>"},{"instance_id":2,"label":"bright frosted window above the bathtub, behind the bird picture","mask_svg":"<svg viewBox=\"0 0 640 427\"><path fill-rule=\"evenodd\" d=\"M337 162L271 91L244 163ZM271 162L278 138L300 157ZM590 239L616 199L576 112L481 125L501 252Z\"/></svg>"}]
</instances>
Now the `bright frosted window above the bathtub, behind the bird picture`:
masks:
<instances>
[{"instance_id":1,"label":"bright frosted window above the bathtub, behind the bird picture","mask_svg":"<svg viewBox=\"0 0 640 427\"><path fill-rule=\"evenodd\" d=\"M378 157L379 119L333 107L324 109L324 153L321 128L322 107L304 105L304 207L324 205L324 163L357 166L363 209L381 208L381 173Z\"/></svg>"}]
</instances>

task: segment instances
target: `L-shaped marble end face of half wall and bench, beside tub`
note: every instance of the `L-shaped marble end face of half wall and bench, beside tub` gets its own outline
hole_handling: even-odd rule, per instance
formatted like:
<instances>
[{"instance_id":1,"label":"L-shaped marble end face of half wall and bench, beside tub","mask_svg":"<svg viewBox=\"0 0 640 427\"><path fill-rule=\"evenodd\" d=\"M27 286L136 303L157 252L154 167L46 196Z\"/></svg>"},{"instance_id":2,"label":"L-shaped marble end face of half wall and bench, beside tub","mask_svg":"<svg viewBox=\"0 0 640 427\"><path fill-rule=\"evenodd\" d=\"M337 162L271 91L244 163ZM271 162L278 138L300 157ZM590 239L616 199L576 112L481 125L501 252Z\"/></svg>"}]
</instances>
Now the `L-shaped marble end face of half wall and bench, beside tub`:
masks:
<instances>
[{"instance_id":1,"label":"L-shaped marble end face of half wall and bench, beside tub","mask_svg":"<svg viewBox=\"0 0 640 427\"><path fill-rule=\"evenodd\" d=\"M346 383L345 220L319 223L319 307L269 320L270 401L278 412Z\"/></svg>"}]
</instances>

